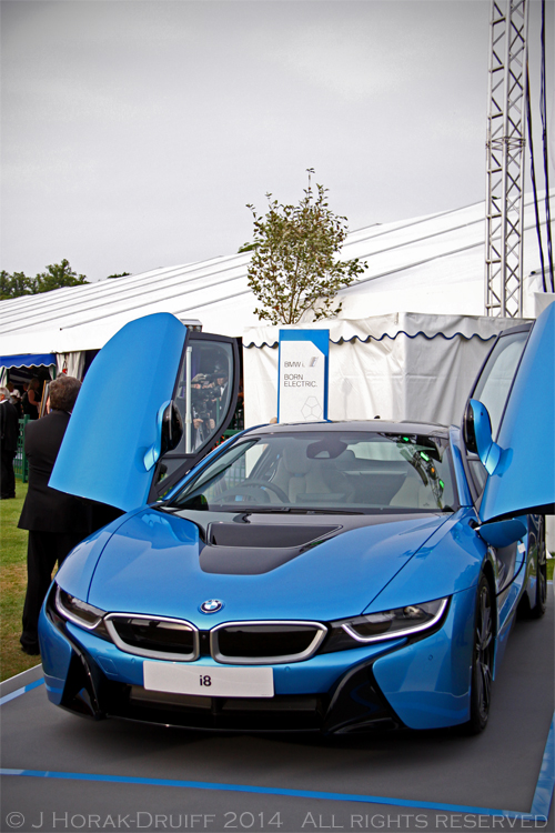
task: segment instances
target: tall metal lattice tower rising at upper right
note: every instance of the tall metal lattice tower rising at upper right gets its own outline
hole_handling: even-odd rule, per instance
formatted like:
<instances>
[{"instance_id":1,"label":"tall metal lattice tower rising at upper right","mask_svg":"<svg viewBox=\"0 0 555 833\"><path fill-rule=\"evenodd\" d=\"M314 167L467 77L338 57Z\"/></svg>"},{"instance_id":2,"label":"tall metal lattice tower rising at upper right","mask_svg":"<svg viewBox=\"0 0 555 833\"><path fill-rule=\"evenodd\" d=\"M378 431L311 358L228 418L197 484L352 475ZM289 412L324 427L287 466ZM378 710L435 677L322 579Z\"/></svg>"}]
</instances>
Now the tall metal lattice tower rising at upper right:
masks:
<instances>
[{"instance_id":1,"label":"tall metal lattice tower rising at upper right","mask_svg":"<svg viewBox=\"0 0 555 833\"><path fill-rule=\"evenodd\" d=\"M485 314L522 314L528 0L492 0Z\"/></svg>"}]
</instances>

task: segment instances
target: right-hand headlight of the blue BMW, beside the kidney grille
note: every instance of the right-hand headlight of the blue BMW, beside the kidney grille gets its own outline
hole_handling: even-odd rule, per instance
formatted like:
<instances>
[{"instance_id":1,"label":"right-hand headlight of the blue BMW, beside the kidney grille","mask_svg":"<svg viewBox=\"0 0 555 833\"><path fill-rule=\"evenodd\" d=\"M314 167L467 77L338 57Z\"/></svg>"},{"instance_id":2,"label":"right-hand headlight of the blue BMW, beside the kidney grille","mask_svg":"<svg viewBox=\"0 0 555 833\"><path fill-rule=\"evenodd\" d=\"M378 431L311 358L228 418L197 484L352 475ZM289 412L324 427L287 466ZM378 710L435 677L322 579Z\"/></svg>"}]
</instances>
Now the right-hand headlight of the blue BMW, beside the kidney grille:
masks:
<instances>
[{"instance_id":1,"label":"right-hand headlight of the blue BMW, beside the kidney grille","mask_svg":"<svg viewBox=\"0 0 555 833\"><path fill-rule=\"evenodd\" d=\"M447 604L448 598L436 599L433 602L407 604L404 608L331 622L330 639L323 651L345 651L427 631L440 622Z\"/></svg>"}]
</instances>

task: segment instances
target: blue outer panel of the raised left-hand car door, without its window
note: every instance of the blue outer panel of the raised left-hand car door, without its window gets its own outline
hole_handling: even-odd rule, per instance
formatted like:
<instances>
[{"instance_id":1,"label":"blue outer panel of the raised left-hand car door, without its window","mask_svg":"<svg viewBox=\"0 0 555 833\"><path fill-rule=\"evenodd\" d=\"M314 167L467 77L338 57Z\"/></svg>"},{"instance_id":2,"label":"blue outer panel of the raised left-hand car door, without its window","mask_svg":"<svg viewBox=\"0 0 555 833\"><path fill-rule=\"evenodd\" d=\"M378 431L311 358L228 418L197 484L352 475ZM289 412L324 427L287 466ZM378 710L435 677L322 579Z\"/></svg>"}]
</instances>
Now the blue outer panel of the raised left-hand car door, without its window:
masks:
<instances>
[{"instance_id":1,"label":"blue outer panel of the raised left-hand car door, without its window","mask_svg":"<svg viewBox=\"0 0 555 833\"><path fill-rule=\"evenodd\" d=\"M53 489L124 511L147 502L153 472L144 461L160 448L159 411L172 399L185 338L186 328L160 312L125 324L102 348L75 402Z\"/></svg>"}]
</instances>

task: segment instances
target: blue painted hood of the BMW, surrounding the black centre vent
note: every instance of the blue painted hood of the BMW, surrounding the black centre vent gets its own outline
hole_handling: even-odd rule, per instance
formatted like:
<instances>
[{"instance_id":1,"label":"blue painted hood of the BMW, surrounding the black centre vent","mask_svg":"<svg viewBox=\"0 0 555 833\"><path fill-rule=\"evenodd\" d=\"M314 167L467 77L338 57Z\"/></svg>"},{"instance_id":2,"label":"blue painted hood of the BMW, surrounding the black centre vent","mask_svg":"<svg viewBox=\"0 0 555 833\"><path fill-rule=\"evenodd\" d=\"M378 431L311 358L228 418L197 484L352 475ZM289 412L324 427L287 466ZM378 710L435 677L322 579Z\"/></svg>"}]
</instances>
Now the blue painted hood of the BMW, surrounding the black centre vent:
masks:
<instances>
[{"instance_id":1,"label":"blue painted hood of the BMW, surrounding the black centre vent","mask_svg":"<svg viewBox=\"0 0 555 833\"><path fill-rule=\"evenodd\" d=\"M214 564L213 551L220 548L210 545L212 558L209 569L203 569L206 544L195 523L145 509L129 516L102 544L88 601L105 611L174 616L200 628L229 620L330 621L356 615L448 518L319 518L329 538L300 548L297 554L282 563L270 560L265 572L236 573L224 563L229 553L222 553L221 568L218 561ZM275 525L276 536L283 525L280 521L268 521ZM286 524L294 525L289 519ZM334 528L332 532L330 526ZM276 548L265 549L274 552ZM243 550L236 548L235 552L239 558ZM256 552L261 559L266 556L264 548ZM65 588L63 573L60 583L72 592ZM210 615L201 613L199 606L209 599L223 602L222 610Z\"/></svg>"}]
</instances>

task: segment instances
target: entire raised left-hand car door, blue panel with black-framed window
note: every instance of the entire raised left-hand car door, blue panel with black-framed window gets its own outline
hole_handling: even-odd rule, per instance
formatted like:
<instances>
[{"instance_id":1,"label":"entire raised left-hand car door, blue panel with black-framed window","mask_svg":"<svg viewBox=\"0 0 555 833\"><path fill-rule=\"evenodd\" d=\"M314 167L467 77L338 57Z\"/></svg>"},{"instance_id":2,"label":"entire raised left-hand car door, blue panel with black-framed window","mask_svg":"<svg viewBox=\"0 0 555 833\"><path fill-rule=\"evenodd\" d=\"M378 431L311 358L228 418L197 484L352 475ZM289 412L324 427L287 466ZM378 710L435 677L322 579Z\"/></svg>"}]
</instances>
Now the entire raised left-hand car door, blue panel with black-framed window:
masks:
<instances>
[{"instance_id":1,"label":"entire raised left-hand car door, blue panel with black-framed window","mask_svg":"<svg viewBox=\"0 0 555 833\"><path fill-rule=\"evenodd\" d=\"M238 387L234 339L131 321L91 364L50 485L124 511L157 500L222 435Z\"/></svg>"}]
</instances>

